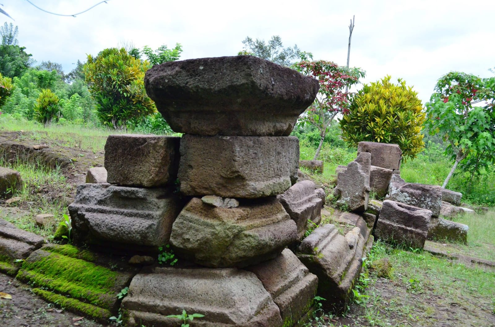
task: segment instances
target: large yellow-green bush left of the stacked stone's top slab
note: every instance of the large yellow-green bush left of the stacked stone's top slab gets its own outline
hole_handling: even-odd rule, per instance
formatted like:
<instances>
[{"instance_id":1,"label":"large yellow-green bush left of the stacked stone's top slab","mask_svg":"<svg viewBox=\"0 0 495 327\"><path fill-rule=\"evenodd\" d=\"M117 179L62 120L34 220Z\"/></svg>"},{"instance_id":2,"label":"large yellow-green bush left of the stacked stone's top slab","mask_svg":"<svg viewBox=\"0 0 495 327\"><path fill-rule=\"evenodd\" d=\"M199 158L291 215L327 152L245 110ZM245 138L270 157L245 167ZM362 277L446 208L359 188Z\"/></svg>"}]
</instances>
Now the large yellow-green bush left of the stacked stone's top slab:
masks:
<instances>
[{"instance_id":1,"label":"large yellow-green bush left of the stacked stone's top slab","mask_svg":"<svg viewBox=\"0 0 495 327\"><path fill-rule=\"evenodd\" d=\"M84 73L101 123L126 128L128 121L156 111L144 84L150 66L148 61L134 58L124 48L104 49L96 57L88 55Z\"/></svg>"}]
</instances>

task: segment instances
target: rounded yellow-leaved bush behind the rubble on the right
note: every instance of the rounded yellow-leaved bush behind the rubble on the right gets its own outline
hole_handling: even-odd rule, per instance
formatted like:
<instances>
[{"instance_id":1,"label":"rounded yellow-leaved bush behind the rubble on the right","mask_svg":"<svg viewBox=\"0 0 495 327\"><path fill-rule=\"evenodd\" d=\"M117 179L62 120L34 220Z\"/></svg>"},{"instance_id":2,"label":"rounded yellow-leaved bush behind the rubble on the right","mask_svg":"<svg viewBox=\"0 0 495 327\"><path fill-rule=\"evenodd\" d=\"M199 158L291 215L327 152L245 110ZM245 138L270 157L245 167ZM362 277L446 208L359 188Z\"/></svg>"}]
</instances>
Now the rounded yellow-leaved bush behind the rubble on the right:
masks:
<instances>
[{"instance_id":1,"label":"rounded yellow-leaved bush behind the rubble on the right","mask_svg":"<svg viewBox=\"0 0 495 327\"><path fill-rule=\"evenodd\" d=\"M361 141L395 143L403 157L415 158L424 148L421 100L405 81L394 84L390 79L364 84L353 97L340 121L342 137L351 146Z\"/></svg>"}]
</instances>

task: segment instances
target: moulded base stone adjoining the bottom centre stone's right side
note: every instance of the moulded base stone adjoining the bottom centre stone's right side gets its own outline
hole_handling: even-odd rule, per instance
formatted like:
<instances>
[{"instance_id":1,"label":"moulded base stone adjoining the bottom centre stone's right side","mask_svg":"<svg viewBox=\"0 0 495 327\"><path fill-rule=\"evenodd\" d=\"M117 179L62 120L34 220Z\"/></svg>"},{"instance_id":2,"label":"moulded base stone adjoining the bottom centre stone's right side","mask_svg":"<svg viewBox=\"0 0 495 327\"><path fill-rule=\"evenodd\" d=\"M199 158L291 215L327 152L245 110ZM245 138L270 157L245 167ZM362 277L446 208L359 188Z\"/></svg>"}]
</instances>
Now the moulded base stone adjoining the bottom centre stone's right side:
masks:
<instances>
[{"instance_id":1,"label":"moulded base stone adjoining the bottom centre stone's right side","mask_svg":"<svg viewBox=\"0 0 495 327\"><path fill-rule=\"evenodd\" d=\"M293 326L303 317L316 295L318 278L288 248L270 261L249 266L280 309L283 326Z\"/></svg>"}]
</instances>

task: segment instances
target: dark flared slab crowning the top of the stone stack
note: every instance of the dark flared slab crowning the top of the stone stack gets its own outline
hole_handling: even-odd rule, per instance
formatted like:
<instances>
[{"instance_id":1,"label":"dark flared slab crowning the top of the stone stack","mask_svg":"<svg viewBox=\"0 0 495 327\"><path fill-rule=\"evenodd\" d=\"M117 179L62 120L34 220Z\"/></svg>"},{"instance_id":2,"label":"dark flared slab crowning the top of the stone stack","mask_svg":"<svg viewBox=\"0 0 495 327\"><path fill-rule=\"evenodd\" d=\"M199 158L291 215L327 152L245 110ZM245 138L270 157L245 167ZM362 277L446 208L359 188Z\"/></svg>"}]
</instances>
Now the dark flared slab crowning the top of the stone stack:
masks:
<instances>
[{"instance_id":1,"label":"dark flared slab crowning the top of the stone stack","mask_svg":"<svg viewBox=\"0 0 495 327\"><path fill-rule=\"evenodd\" d=\"M313 103L318 81L255 56L166 62L146 91L175 132L287 136Z\"/></svg>"}]
</instances>

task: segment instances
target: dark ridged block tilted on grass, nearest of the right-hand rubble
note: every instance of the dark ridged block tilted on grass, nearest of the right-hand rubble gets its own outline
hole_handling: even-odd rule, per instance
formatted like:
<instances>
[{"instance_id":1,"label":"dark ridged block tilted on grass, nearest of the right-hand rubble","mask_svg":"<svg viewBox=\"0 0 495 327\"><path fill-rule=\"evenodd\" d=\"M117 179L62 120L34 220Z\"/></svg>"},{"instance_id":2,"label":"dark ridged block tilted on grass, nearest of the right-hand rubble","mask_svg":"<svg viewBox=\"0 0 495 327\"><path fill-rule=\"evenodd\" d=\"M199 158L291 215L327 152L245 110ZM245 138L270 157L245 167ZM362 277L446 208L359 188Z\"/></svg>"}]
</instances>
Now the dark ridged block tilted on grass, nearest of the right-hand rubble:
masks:
<instances>
[{"instance_id":1,"label":"dark ridged block tilted on grass, nearest of the right-hand rubble","mask_svg":"<svg viewBox=\"0 0 495 327\"><path fill-rule=\"evenodd\" d=\"M385 200L374 233L385 241L423 248L431 217L431 210Z\"/></svg>"}]
</instances>

